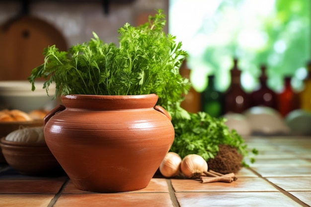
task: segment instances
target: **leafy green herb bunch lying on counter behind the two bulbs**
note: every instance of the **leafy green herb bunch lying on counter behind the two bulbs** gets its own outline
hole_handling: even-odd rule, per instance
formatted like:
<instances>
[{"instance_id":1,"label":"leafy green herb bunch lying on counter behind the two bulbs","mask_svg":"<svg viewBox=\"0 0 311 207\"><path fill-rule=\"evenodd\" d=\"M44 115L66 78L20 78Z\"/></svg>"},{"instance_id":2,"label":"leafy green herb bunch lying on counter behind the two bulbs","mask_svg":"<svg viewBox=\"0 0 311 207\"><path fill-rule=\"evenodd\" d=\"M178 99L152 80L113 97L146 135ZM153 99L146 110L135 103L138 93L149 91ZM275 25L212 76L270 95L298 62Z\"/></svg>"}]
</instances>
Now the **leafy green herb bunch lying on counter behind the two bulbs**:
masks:
<instances>
[{"instance_id":1,"label":"leafy green herb bunch lying on counter behind the two bulbs","mask_svg":"<svg viewBox=\"0 0 311 207\"><path fill-rule=\"evenodd\" d=\"M214 118L205 112L189 113L190 119L173 118L175 139L170 151L181 157L188 154L199 154L205 160L214 158L219 145L227 144L235 147L244 157L243 165L247 166L246 158L253 163L258 151L249 152L243 138L235 130L230 131L224 118Z\"/></svg>"}]
</instances>

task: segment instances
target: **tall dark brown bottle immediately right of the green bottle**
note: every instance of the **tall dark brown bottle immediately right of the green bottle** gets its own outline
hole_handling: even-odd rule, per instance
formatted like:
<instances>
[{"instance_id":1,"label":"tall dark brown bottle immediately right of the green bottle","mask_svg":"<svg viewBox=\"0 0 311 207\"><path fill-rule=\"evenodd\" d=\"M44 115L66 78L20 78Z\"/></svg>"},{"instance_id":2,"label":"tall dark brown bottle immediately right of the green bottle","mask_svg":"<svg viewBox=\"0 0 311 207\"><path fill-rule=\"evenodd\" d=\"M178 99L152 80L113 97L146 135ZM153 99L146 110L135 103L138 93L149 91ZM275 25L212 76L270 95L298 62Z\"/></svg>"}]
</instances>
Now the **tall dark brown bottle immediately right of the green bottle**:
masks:
<instances>
[{"instance_id":1,"label":"tall dark brown bottle immediately right of the green bottle","mask_svg":"<svg viewBox=\"0 0 311 207\"><path fill-rule=\"evenodd\" d=\"M242 113L249 108L249 97L241 85L241 70L237 67L237 59L233 59L233 68L230 72L231 84L225 92L225 112Z\"/></svg>"}]
</instances>

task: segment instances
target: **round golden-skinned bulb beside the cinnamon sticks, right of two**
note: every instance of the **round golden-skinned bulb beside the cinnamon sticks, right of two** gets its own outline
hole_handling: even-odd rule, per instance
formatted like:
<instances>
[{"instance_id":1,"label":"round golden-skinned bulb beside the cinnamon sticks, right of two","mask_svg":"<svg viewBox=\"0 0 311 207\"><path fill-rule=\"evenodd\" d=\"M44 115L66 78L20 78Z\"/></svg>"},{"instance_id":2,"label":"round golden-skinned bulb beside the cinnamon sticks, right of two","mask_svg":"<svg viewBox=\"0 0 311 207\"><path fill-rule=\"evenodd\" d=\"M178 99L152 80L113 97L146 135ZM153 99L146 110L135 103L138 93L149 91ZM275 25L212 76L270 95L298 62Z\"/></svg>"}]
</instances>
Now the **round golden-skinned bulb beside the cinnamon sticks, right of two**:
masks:
<instances>
[{"instance_id":1,"label":"round golden-skinned bulb beside the cinnamon sticks, right of two","mask_svg":"<svg viewBox=\"0 0 311 207\"><path fill-rule=\"evenodd\" d=\"M188 178L198 178L208 170L207 162L198 154L188 154L182 159L181 172Z\"/></svg>"}]
</instances>

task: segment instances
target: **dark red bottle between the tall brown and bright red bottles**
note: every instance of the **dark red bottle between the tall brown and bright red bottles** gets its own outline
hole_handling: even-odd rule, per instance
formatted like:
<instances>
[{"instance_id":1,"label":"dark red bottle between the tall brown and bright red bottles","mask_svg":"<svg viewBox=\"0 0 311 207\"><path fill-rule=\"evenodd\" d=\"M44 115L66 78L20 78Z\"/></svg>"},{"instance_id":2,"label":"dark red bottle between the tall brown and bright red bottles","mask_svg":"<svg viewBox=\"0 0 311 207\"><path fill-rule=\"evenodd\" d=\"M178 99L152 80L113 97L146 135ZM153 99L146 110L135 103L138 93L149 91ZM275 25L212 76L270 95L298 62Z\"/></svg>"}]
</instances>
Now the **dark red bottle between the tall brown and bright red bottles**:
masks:
<instances>
[{"instance_id":1,"label":"dark red bottle between the tall brown and bright red bottles","mask_svg":"<svg viewBox=\"0 0 311 207\"><path fill-rule=\"evenodd\" d=\"M250 93L250 106L267 106L277 110L277 94L267 85L267 74L265 65L261 65L261 75L259 77L260 88Z\"/></svg>"}]
</instances>

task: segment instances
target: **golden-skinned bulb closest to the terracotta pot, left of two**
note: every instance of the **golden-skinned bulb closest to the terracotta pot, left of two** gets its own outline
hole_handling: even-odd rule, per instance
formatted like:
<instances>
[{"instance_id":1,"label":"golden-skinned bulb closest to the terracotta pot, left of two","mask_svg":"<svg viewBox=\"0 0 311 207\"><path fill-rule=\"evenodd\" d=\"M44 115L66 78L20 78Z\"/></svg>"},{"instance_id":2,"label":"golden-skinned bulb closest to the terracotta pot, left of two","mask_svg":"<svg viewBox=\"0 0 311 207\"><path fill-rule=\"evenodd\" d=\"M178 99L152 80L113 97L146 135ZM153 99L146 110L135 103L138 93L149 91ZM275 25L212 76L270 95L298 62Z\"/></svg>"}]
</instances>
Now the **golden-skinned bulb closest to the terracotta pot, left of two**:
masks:
<instances>
[{"instance_id":1,"label":"golden-skinned bulb closest to the terracotta pot, left of two","mask_svg":"<svg viewBox=\"0 0 311 207\"><path fill-rule=\"evenodd\" d=\"M162 160L159 170L164 177L177 176L180 172L181 157L175 152L168 152Z\"/></svg>"}]
</instances>

